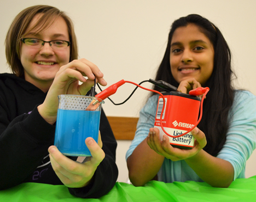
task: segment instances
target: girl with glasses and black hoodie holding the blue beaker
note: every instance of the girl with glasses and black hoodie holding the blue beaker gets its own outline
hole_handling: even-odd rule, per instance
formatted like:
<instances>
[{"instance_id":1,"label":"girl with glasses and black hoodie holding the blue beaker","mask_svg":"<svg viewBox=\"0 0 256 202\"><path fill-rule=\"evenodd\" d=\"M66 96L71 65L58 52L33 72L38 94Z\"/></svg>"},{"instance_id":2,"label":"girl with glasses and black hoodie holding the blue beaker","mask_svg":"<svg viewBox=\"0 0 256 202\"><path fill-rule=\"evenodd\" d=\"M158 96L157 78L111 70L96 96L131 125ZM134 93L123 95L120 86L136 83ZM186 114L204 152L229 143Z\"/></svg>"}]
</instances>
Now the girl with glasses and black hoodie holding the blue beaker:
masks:
<instances>
[{"instance_id":1,"label":"girl with glasses and black hoodie holding the blue beaker","mask_svg":"<svg viewBox=\"0 0 256 202\"><path fill-rule=\"evenodd\" d=\"M118 176L117 141L103 111L98 143L90 137L81 143L92 155L86 161L53 145L57 96L86 95L95 77L107 85L95 64L77 58L71 19L48 5L22 10L7 33L5 53L13 74L0 74L0 189L37 182L65 185L82 198L108 193Z\"/></svg>"}]
</instances>

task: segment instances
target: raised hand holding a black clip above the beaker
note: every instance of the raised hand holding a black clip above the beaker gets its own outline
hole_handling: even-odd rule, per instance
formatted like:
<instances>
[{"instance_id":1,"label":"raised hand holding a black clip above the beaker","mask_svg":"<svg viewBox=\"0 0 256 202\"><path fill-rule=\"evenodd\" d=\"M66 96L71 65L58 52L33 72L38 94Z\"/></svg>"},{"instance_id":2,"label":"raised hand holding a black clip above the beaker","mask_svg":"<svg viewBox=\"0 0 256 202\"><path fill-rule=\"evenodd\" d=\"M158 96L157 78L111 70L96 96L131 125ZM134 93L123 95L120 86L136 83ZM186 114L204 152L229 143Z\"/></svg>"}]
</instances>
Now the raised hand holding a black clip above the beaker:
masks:
<instances>
[{"instance_id":1,"label":"raised hand holding a black clip above the beaker","mask_svg":"<svg viewBox=\"0 0 256 202\"><path fill-rule=\"evenodd\" d=\"M95 76L94 76L95 75ZM84 78L87 76L88 79ZM53 83L42 105L38 106L39 114L50 124L57 118L58 95L86 95L94 85L94 79L101 85L107 85L98 67L86 59L73 60L63 65L56 73ZM82 82L82 84L79 84Z\"/></svg>"}]
</instances>

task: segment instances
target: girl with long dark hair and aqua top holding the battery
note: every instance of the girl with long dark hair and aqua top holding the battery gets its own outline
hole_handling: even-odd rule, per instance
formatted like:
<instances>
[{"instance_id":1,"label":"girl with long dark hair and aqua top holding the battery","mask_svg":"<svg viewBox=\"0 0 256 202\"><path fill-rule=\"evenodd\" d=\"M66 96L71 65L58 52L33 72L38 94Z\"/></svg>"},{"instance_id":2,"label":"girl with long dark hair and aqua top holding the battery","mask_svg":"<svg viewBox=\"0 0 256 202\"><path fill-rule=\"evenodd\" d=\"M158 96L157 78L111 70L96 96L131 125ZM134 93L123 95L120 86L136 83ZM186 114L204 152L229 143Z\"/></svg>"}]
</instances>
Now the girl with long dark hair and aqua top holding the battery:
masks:
<instances>
[{"instance_id":1,"label":"girl with long dark hair and aqua top holding the battery","mask_svg":"<svg viewBox=\"0 0 256 202\"><path fill-rule=\"evenodd\" d=\"M150 96L126 154L133 185L143 186L158 177L164 182L193 180L228 187L245 177L246 161L256 145L256 97L235 90L232 76L228 44L213 23L195 14L173 22L156 81L170 83L182 93L197 87L210 91L202 120L191 131L196 139L191 150L173 148L166 134L160 140L158 128L153 128L158 95Z\"/></svg>"}]
</instances>

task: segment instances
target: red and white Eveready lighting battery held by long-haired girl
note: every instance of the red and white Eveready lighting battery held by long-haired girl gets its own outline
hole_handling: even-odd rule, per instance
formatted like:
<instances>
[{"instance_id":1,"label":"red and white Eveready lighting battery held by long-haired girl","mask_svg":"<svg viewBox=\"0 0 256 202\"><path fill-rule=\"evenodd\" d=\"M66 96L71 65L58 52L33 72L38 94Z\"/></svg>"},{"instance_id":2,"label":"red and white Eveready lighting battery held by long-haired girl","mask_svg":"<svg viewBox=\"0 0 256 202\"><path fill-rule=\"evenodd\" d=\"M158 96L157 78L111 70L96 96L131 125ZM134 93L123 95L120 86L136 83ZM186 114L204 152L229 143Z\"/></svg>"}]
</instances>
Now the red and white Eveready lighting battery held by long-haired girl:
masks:
<instances>
[{"instance_id":1,"label":"red and white Eveready lighting battery held by long-haired girl","mask_svg":"<svg viewBox=\"0 0 256 202\"><path fill-rule=\"evenodd\" d=\"M184 136L182 134L190 130L197 123L201 98L178 91L165 92L162 95L164 95L165 99L162 126L168 133L170 144L181 149L193 148L195 140L191 132L184 134ZM160 131L160 140L162 140L162 136L165 134L160 122L163 105L164 101L159 96L154 127Z\"/></svg>"}]
</instances>

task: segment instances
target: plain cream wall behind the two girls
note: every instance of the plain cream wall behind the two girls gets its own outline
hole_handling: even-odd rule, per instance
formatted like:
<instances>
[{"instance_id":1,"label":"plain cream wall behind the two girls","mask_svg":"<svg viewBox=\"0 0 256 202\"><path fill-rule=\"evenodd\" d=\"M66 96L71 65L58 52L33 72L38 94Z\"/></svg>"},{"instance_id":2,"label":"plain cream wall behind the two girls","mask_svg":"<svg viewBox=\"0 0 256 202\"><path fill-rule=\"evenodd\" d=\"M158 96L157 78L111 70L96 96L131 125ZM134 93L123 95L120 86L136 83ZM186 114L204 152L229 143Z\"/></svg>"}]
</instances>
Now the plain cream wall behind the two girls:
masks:
<instances>
[{"instance_id":1,"label":"plain cream wall behind the two girls","mask_svg":"<svg viewBox=\"0 0 256 202\"><path fill-rule=\"evenodd\" d=\"M139 83L154 78L173 20L193 13L205 16L219 27L231 48L238 85L256 94L254 0L1 0L0 72L9 72L4 39L11 21L22 9L42 3L53 5L71 16L78 37L79 56L98 65L108 84L121 79ZM150 84L143 86L151 87ZM132 84L124 84L111 98L121 102L133 88ZM146 95L147 91L138 89L121 106L106 100L104 111L109 116L138 117ZM118 141L119 181L127 179L124 150L129 144L130 141ZM249 161L247 176L252 176L256 174L253 171L255 163L252 158Z\"/></svg>"}]
</instances>

